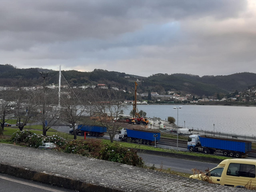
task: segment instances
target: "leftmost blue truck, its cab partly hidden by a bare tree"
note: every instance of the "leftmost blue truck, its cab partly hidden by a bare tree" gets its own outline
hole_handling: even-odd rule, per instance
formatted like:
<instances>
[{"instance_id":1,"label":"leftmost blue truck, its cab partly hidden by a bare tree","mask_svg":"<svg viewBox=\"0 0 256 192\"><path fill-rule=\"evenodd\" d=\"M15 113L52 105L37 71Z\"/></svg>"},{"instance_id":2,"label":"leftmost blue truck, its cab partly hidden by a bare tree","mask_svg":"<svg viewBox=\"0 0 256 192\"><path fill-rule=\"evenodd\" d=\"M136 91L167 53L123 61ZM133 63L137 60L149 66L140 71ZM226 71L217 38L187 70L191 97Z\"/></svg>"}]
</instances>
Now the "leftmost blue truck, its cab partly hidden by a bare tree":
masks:
<instances>
[{"instance_id":1,"label":"leftmost blue truck, its cab partly hidden by a bare tree","mask_svg":"<svg viewBox=\"0 0 256 192\"><path fill-rule=\"evenodd\" d=\"M80 124L76 127L76 134L89 134L90 136L102 137L106 132L107 128L103 126ZM70 128L69 133L74 134L73 128Z\"/></svg>"}]
</instances>

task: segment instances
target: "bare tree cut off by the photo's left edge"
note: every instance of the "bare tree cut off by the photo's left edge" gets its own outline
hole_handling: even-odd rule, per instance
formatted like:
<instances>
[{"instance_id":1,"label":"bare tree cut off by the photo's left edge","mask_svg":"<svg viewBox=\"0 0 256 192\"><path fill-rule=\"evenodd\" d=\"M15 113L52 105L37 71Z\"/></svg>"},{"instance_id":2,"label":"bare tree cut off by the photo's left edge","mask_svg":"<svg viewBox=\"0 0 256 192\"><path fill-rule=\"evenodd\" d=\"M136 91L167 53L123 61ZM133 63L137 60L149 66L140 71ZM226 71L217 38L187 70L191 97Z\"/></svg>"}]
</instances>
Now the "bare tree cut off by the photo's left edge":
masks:
<instances>
[{"instance_id":1,"label":"bare tree cut off by the photo's left edge","mask_svg":"<svg viewBox=\"0 0 256 192\"><path fill-rule=\"evenodd\" d=\"M12 117L12 94L11 91L1 91L0 92L0 135L3 134L4 123L7 122Z\"/></svg>"}]
</instances>

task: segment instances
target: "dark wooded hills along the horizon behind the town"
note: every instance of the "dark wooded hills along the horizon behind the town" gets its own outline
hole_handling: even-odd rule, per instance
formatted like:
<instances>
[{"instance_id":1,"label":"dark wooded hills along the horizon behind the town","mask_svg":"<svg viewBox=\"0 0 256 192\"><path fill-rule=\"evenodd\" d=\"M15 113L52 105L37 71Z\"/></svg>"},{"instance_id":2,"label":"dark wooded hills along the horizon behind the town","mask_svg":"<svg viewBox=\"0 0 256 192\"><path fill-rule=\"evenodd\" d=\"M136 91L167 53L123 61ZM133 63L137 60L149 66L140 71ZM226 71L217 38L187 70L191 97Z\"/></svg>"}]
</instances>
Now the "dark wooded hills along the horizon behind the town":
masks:
<instances>
[{"instance_id":1,"label":"dark wooded hills along the horizon behind the town","mask_svg":"<svg viewBox=\"0 0 256 192\"><path fill-rule=\"evenodd\" d=\"M47 79L58 75L58 71L28 68L19 69L10 64L0 65L0 86L35 86L42 84L40 71L48 71ZM256 86L256 74L243 72L227 76L202 76L191 74L154 74L149 77L95 69L92 72L76 70L62 71L70 86L106 84L122 90L134 91L134 81L139 80L139 93L148 90L165 94L168 90L175 90L183 94L190 93L197 96L212 96L215 93L227 94L235 90L244 91L248 87ZM129 78L128 78L129 77Z\"/></svg>"}]
</instances>

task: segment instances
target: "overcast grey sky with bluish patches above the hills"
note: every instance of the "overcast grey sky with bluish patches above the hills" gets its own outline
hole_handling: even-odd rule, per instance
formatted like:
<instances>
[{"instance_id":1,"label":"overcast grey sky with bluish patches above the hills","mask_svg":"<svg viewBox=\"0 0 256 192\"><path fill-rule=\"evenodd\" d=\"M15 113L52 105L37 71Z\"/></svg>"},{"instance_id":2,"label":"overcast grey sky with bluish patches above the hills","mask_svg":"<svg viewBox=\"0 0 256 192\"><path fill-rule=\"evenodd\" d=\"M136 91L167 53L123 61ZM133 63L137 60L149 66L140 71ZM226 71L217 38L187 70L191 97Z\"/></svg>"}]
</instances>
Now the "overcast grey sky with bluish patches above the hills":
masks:
<instances>
[{"instance_id":1,"label":"overcast grey sky with bluish patches above the hills","mask_svg":"<svg viewBox=\"0 0 256 192\"><path fill-rule=\"evenodd\" d=\"M256 73L255 0L1 0L0 64Z\"/></svg>"}]
</instances>

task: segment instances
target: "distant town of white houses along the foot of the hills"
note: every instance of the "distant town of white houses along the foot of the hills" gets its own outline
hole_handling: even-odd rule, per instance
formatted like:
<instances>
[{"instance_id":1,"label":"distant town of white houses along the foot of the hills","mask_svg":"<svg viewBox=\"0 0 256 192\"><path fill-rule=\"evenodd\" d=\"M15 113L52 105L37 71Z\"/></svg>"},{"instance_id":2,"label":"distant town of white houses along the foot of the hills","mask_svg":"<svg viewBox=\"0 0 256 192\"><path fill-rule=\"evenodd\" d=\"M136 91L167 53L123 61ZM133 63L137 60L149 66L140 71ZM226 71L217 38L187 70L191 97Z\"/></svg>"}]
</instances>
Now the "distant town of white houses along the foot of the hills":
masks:
<instances>
[{"instance_id":1,"label":"distant town of white houses along the foot of the hills","mask_svg":"<svg viewBox=\"0 0 256 192\"><path fill-rule=\"evenodd\" d=\"M140 82L137 80L137 82ZM66 85L67 86L67 85ZM65 87L66 87L65 86ZM46 87L51 89L58 88L58 85L50 84L46 85ZM64 87L64 86L61 86ZM129 94L134 94L134 92L126 91L119 89L117 87L108 87L105 84L96 84L96 85L83 85L83 86L74 86L72 88L78 88L82 90L86 90L87 88L101 88L101 89L113 89L116 91L128 92ZM0 90L15 90L15 89L24 89L24 90L37 90L42 89L42 85L32 86L32 87L4 87L0 86ZM160 95L157 92L148 92L148 93L136 93L137 95L137 104L172 104L172 103L199 103L199 102L256 102L256 87L252 87L245 92L235 91L230 94L218 94L216 93L214 96L208 97L198 97L192 94L181 94L177 91L167 91L165 95ZM131 104L133 100L125 100L124 103Z\"/></svg>"}]
</instances>

